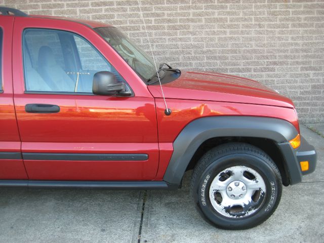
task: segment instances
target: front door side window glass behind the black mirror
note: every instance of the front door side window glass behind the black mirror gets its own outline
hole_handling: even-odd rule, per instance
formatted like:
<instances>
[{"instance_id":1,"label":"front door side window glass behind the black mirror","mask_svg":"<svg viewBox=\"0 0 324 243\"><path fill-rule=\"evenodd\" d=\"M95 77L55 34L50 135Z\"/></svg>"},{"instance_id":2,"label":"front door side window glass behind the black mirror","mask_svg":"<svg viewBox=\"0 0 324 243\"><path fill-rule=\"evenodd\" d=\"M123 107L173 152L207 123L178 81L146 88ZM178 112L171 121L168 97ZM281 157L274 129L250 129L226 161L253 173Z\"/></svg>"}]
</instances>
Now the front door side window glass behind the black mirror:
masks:
<instances>
[{"instance_id":1,"label":"front door side window glass behind the black mirror","mask_svg":"<svg viewBox=\"0 0 324 243\"><path fill-rule=\"evenodd\" d=\"M100 71L124 78L83 37L60 30L26 29L23 33L26 91L92 93Z\"/></svg>"}]
</instances>

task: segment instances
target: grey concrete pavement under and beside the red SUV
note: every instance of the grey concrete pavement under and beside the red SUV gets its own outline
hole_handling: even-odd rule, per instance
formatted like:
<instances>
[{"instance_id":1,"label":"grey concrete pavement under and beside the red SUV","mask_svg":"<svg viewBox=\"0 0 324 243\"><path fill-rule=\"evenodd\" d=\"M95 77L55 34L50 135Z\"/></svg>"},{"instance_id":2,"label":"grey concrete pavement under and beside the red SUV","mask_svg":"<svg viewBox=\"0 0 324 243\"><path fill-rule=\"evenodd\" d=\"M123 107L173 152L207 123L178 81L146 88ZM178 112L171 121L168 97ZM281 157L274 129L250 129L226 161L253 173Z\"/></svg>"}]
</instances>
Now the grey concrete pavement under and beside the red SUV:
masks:
<instances>
[{"instance_id":1,"label":"grey concrete pavement under and beside the red SUV","mask_svg":"<svg viewBox=\"0 0 324 243\"><path fill-rule=\"evenodd\" d=\"M285 187L256 228L220 230L202 220L187 175L177 191L0 189L0 242L324 242L324 138L303 126L301 133L318 152L316 171Z\"/></svg>"}]
</instances>

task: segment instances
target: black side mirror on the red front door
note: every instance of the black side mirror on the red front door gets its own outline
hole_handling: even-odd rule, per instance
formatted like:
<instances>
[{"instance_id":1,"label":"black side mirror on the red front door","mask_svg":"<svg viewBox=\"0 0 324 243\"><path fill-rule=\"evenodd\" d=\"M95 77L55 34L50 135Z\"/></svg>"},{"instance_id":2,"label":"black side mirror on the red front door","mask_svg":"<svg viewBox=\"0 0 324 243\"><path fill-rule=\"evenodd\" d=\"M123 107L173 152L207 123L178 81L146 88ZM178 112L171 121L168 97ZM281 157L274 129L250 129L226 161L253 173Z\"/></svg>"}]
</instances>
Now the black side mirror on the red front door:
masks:
<instances>
[{"instance_id":1,"label":"black side mirror on the red front door","mask_svg":"<svg viewBox=\"0 0 324 243\"><path fill-rule=\"evenodd\" d=\"M125 91L126 84L118 82L112 72L96 72L93 76L92 93L95 95L115 95Z\"/></svg>"}]
</instances>

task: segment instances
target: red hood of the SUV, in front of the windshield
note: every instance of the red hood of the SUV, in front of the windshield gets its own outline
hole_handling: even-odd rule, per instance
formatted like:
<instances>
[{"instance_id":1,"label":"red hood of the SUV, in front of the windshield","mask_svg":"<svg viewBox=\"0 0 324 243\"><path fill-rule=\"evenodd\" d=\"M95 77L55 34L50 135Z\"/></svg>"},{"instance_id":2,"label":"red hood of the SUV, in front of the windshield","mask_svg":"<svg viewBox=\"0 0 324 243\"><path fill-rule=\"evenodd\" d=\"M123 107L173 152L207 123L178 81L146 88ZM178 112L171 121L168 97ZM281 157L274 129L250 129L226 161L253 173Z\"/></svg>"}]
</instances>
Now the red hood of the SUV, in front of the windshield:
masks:
<instances>
[{"instance_id":1,"label":"red hood of the SUV, in front of the windshield","mask_svg":"<svg viewBox=\"0 0 324 243\"><path fill-rule=\"evenodd\" d=\"M162 98L159 85L148 86L155 98ZM179 78L163 84L166 98L251 103L294 107L293 102L259 82L217 72L182 71Z\"/></svg>"}]
</instances>

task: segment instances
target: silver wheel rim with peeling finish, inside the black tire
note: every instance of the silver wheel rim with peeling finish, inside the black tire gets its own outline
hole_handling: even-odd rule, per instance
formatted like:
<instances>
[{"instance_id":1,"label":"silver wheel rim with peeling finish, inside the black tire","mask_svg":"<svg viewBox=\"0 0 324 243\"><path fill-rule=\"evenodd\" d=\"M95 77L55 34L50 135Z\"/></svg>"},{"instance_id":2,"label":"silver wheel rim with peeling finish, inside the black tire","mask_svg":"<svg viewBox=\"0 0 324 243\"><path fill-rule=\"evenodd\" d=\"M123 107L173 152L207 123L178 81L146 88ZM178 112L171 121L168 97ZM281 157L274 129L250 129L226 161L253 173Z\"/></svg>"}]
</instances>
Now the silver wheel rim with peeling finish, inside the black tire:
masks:
<instances>
[{"instance_id":1,"label":"silver wheel rim with peeling finish, inside the black tire","mask_svg":"<svg viewBox=\"0 0 324 243\"><path fill-rule=\"evenodd\" d=\"M209 189L213 208L229 218L254 214L261 207L265 193L261 175L246 166L233 166L221 171Z\"/></svg>"}]
</instances>

